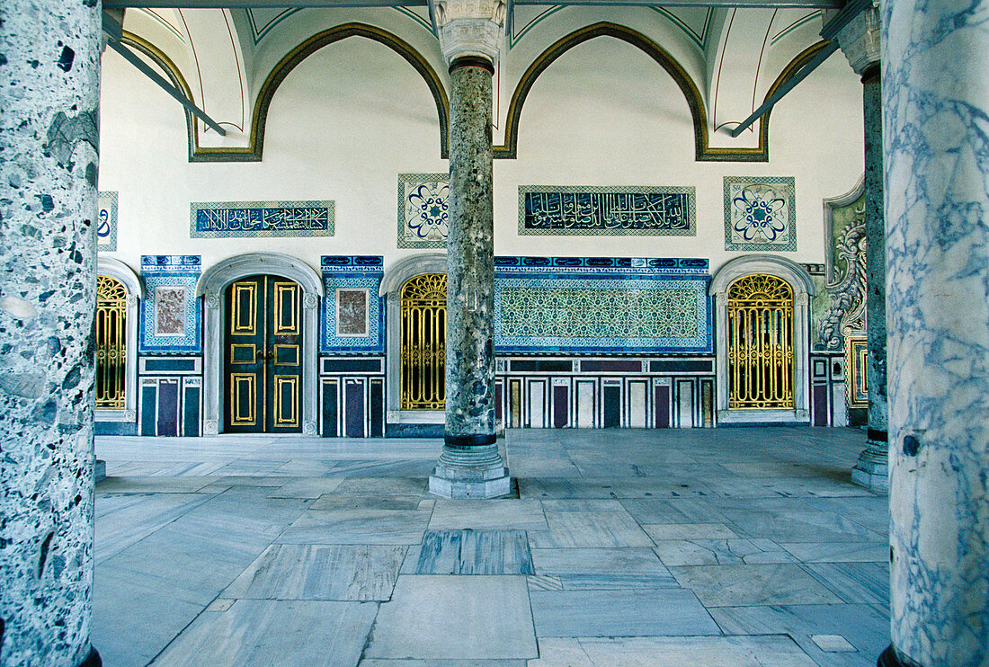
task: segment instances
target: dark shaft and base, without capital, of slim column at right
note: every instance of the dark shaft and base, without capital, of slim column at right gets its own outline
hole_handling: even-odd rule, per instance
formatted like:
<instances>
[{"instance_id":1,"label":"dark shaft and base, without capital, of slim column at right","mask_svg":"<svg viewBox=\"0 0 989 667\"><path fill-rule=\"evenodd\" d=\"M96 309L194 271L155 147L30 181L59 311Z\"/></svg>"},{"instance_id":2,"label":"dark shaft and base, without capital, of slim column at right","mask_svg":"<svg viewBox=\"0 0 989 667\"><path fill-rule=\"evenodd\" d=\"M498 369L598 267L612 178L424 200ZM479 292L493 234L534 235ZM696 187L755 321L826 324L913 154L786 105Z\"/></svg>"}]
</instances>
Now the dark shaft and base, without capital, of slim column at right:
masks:
<instances>
[{"instance_id":1,"label":"dark shaft and base, without capital, of slim column at right","mask_svg":"<svg viewBox=\"0 0 989 667\"><path fill-rule=\"evenodd\" d=\"M879 63L862 74L865 125L865 327L868 335L868 431L852 469L855 483L889 488L886 397L886 224L882 197L882 85Z\"/></svg>"}]
</instances>

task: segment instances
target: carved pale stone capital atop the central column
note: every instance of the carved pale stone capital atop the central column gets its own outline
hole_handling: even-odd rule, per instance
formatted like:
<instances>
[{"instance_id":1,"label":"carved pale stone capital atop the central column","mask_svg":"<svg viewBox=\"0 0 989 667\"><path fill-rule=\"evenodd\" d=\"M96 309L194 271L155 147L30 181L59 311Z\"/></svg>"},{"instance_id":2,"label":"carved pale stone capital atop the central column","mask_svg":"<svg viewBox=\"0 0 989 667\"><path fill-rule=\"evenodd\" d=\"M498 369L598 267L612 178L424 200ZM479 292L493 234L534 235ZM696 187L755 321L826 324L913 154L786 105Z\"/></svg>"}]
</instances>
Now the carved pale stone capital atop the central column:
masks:
<instances>
[{"instance_id":1,"label":"carved pale stone capital atop the central column","mask_svg":"<svg viewBox=\"0 0 989 667\"><path fill-rule=\"evenodd\" d=\"M504 42L502 0L429 0L446 64L464 56L496 64Z\"/></svg>"}]
</instances>

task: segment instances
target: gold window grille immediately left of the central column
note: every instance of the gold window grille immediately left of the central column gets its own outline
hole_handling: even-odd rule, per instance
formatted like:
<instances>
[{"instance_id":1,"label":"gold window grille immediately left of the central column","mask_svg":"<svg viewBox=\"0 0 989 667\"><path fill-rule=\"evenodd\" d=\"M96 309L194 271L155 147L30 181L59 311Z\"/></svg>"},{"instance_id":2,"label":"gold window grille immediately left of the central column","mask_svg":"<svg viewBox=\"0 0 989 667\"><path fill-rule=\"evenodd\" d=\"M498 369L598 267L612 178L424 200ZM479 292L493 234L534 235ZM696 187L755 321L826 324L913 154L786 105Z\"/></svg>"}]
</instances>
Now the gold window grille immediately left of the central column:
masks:
<instances>
[{"instance_id":1,"label":"gold window grille immediately left of the central column","mask_svg":"<svg viewBox=\"0 0 989 667\"><path fill-rule=\"evenodd\" d=\"M446 276L424 274L402 288L402 409L446 406Z\"/></svg>"}]
</instances>

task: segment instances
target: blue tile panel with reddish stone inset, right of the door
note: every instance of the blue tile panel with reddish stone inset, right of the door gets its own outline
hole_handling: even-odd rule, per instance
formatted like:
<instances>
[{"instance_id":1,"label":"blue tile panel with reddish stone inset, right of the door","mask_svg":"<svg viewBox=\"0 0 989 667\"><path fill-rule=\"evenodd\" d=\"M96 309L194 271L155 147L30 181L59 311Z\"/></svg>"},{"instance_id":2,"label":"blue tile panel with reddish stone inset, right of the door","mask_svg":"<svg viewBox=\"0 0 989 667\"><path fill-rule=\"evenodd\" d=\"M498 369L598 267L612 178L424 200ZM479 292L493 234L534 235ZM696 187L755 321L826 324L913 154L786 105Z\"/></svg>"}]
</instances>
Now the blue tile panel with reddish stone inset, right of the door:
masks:
<instances>
[{"instance_id":1,"label":"blue tile panel with reddish stone inset, right of the door","mask_svg":"<svg viewBox=\"0 0 989 667\"><path fill-rule=\"evenodd\" d=\"M319 351L385 351L384 258L331 255L320 261L323 289Z\"/></svg>"}]
</instances>

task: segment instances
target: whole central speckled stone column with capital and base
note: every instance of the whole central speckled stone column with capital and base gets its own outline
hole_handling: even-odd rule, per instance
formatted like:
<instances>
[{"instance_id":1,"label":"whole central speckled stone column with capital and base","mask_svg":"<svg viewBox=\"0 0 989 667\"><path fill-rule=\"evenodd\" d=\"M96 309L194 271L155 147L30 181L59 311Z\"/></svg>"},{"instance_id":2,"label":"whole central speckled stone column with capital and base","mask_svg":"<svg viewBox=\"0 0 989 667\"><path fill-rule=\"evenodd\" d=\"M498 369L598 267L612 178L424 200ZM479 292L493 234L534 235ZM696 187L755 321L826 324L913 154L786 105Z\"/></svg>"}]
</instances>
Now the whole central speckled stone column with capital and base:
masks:
<instances>
[{"instance_id":1,"label":"whole central speckled stone column with capital and base","mask_svg":"<svg viewBox=\"0 0 989 667\"><path fill-rule=\"evenodd\" d=\"M504 3L434 2L450 66L450 220L446 288L446 434L429 490L496 498L510 480L494 435L492 76Z\"/></svg>"}]
</instances>

